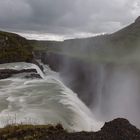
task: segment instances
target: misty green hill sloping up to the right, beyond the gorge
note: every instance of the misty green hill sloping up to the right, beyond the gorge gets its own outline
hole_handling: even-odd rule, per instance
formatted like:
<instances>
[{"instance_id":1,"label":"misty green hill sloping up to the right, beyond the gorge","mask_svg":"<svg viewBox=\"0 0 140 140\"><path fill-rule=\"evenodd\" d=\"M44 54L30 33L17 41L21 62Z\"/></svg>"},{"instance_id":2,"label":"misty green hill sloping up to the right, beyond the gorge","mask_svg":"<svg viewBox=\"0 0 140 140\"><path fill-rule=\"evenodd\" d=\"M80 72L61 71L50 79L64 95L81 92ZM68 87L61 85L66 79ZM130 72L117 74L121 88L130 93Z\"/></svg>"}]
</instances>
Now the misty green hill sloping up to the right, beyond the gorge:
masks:
<instances>
[{"instance_id":1,"label":"misty green hill sloping up to the right, beyond the gorge","mask_svg":"<svg viewBox=\"0 0 140 140\"><path fill-rule=\"evenodd\" d=\"M130 55L131 60L135 61L140 54L140 17L112 34L63 42L37 41L34 46L38 51L51 51L86 61L117 62L118 59L128 59Z\"/></svg>"}]
</instances>

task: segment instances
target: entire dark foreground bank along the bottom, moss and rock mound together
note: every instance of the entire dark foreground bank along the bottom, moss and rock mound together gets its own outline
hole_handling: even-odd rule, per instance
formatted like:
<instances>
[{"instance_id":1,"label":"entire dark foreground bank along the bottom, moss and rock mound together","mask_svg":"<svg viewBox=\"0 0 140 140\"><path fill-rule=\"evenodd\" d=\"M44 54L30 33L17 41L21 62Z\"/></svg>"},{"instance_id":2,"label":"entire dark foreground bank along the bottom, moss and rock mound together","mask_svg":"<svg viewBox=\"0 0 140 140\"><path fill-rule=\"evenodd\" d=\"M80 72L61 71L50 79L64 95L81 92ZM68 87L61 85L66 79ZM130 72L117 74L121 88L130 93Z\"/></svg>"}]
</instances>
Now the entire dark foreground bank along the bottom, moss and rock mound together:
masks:
<instances>
[{"instance_id":1,"label":"entire dark foreground bank along the bottom, moss and rock mound together","mask_svg":"<svg viewBox=\"0 0 140 140\"><path fill-rule=\"evenodd\" d=\"M105 123L98 132L69 133L58 124L18 125L0 129L1 140L140 140L140 130L126 119Z\"/></svg>"}]
</instances>

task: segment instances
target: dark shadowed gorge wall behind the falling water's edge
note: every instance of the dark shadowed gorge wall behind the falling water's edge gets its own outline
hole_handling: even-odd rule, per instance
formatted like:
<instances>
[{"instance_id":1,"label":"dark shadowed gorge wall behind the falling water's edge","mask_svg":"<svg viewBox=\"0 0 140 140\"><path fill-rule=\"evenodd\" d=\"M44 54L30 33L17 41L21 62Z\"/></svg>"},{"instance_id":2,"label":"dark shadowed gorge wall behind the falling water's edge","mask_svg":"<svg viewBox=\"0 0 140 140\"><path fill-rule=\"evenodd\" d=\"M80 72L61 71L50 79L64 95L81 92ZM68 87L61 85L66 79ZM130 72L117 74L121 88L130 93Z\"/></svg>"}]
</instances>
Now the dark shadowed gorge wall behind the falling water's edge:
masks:
<instances>
[{"instance_id":1,"label":"dark shadowed gorge wall behind the falling water's edge","mask_svg":"<svg viewBox=\"0 0 140 140\"><path fill-rule=\"evenodd\" d=\"M98 68L96 65L56 53L43 53L42 62L60 73L64 83L78 94L87 105L93 102L96 93ZM92 76L90 75L92 73ZM91 82L92 80L92 82Z\"/></svg>"}]
</instances>

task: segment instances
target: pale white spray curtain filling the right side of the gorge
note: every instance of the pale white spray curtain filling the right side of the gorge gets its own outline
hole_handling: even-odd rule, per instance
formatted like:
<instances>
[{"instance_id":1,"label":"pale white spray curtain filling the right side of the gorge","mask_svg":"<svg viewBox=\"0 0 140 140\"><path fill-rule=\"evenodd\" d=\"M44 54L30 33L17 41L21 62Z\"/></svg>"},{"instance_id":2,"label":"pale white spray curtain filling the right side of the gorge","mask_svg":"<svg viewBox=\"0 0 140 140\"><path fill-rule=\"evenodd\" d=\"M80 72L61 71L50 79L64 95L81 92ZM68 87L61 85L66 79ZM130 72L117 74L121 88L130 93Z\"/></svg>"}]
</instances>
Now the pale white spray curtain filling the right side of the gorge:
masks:
<instances>
[{"instance_id":1,"label":"pale white spray curtain filling the right side of the gorge","mask_svg":"<svg viewBox=\"0 0 140 140\"><path fill-rule=\"evenodd\" d=\"M140 67L137 64L102 65L98 73L97 103L91 106L101 121L123 117L140 128Z\"/></svg>"}]
</instances>

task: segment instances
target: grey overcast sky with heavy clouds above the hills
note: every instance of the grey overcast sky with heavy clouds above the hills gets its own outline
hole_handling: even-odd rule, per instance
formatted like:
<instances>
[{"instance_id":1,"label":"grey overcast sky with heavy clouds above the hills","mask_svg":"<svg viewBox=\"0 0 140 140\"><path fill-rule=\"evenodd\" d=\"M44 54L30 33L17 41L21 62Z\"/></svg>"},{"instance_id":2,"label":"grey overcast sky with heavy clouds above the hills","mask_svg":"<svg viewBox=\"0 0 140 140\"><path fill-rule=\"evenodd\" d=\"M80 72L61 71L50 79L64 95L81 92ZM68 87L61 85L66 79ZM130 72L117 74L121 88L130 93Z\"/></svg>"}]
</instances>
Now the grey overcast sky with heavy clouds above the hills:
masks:
<instances>
[{"instance_id":1,"label":"grey overcast sky with heavy clouds above the hills","mask_svg":"<svg viewBox=\"0 0 140 140\"><path fill-rule=\"evenodd\" d=\"M0 0L0 30L61 40L111 33L140 15L140 0Z\"/></svg>"}]
</instances>

